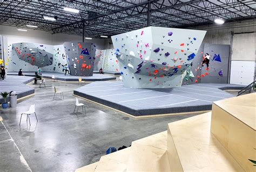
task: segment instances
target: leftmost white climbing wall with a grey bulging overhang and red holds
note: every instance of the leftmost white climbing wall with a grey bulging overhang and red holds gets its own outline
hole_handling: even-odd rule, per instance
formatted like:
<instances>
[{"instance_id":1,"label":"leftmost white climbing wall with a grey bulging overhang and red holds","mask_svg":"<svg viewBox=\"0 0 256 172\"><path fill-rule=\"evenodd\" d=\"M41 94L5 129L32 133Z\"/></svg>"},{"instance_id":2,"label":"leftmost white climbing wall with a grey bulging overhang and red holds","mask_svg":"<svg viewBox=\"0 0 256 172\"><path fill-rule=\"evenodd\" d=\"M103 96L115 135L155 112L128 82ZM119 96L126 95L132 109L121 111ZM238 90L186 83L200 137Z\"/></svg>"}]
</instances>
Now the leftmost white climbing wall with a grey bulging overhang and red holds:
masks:
<instances>
[{"instance_id":1,"label":"leftmost white climbing wall with a grey bulging overhang and red holds","mask_svg":"<svg viewBox=\"0 0 256 172\"><path fill-rule=\"evenodd\" d=\"M8 71L18 72L42 71L63 72L67 64L63 45L46 45L37 43L15 43L8 46Z\"/></svg>"}]
</instances>

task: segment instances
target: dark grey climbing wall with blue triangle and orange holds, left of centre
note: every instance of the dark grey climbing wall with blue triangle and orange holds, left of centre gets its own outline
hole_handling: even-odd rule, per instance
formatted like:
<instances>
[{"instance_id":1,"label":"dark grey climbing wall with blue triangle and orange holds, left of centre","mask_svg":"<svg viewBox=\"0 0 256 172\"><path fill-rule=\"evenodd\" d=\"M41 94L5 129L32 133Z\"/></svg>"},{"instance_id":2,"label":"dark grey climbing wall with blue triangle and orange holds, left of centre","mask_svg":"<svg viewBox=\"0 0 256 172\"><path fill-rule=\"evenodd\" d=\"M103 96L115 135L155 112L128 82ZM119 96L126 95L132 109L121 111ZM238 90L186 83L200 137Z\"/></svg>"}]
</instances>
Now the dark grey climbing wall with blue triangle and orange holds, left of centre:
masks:
<instances>
[{"instance_id":1,"label":"dark grey climbing wall with blue triangle and orange holds, left of centre","mask_svg":"<svg viewBox=\"0 0 256 172\"><path fill-rule=\"evenodd\" d=\"M65 42L65 53L71 75L92 76L96 46L92 43Z\"/></svg>"}]
</instances>

